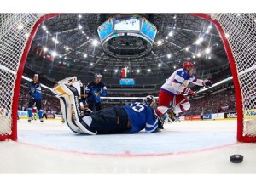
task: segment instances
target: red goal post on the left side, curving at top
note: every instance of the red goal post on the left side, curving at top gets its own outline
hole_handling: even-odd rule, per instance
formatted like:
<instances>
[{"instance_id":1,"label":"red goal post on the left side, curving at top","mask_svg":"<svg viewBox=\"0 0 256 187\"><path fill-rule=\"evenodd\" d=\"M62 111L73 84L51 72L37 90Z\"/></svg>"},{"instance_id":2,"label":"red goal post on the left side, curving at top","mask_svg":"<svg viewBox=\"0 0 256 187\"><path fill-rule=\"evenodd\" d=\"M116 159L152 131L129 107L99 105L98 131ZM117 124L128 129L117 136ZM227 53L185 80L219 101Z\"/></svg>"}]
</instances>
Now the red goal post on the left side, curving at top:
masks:
<instances>
[{"instance_id":1,"label":"red goal post on the left side, curving at top","mask_svg":"<svg viewBox=\"0 0 256 187\"><path fill-rule=\"evenodd\" d=\"M30 32L30 35L26 41L26 46L24 48L24 51L21 55L21 59L20 59L20 65L17 71L17 77L15 80L15 88L14 88L14 93L13 94L13 103L12 103L12 127L11 127L11 134L10 135L3 135L0 136L0 140L5 140L5 139L11 139L13 141L16 141L18 139L18 134L17 134L17 113L18 113L18 105L19 105L19 93L20 93L20 82L22 79L22 74L24 71L24 67L26 64L26 57L27 54L30 50L31 44L32 44L32 40L36 35L36 32L38 31L38 26L40 26L40 24L44 21L44 20L49 20L50 18L53 18L55 16L59 16L61 14L44 14L42 17L40 17L36 23L34 24L34 26L32 27L32 31Z\"/></svg>"}]
</instances>

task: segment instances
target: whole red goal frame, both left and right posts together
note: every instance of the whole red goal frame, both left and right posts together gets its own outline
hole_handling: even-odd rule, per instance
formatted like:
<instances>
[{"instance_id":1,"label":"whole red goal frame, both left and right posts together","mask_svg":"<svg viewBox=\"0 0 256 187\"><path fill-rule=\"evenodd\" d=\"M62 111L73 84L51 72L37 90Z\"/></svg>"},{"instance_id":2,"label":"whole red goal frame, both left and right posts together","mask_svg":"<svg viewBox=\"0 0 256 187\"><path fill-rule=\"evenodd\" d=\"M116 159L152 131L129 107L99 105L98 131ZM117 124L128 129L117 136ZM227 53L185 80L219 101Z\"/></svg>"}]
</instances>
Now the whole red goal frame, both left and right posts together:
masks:
<instances>
[{"instance_id":1,"label":"whole red goal frame, both left and right posts together","mask_svg":"<svg viewBox=\"0 0 256 187\"><path fill-rule=\"evenodd\" d=\"M12 105L12 134L11 135L3 135L0 136L1 139L12 139L12 140L17 140L17 112L18 112L18 103L19 103L19 93L20 93L20 82L21 82L21 77L24 71L25 63L26 63L26 57L29 52L30 46L32 44L32 39L36 34L36 31L38 31L38 26L44 21L48 20L50 18L53 18L55 16L59 16L61 14L44 14L41 18L38 19L36 24L33 26L31 34L29 39L26 42L26 47L24 49L24 53L21 56L20 60L20 65L19 69L17 72L17 77L15 80L15 93L13 96L13 105ZM235 87L235 92L236 92L236 109L237 109L237 140L240 142L252 142L255 140L255 138L252 137L243 137L242 136L242 127L243 127L243 109L242 109L242 97L241 97L241 89L240 89L240 83L238 80L238 75L236 71L236 63L233 57L233 54L231 52L231 48L229 45L229 42L227 41L226 37L224 36L224 31L222 29L222 26L218 23L217 20L212 20L212 18L207 15L207 14L200 14L200 13L195 13L192 14L197 17L200 17L205 20L211 21L218 29L218 33L224 43L224 48L226 50L229 62L230 62L230 69L231 73L233 76L233 82L234 82L234 87Z\"/></svg>"}]
</instances>

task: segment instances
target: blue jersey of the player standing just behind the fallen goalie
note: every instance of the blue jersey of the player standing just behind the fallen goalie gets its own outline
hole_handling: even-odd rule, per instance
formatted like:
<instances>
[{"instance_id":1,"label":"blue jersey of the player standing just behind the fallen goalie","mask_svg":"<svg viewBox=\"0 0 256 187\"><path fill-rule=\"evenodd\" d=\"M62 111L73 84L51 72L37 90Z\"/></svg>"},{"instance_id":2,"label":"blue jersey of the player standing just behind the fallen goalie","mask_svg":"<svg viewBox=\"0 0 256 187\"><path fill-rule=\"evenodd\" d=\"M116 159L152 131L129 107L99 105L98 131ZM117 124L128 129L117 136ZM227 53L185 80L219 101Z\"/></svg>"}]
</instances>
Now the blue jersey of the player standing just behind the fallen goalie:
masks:
<instances>
[{"instance_id":1,"label":"blue jersey of the player standing just behind the fallen goalie","mask_svg":"<svg viewBox=\"0 0 256 187\"><path fill-rule=\"evenodd\" d=\"M101 96L107 95L107 87L103 82L97 84L96 82L90 82L85 88L85 93L88 95L88 100L100 103ZM95 93L99 94L96 96Z\"/></svg>"}]
</instances>

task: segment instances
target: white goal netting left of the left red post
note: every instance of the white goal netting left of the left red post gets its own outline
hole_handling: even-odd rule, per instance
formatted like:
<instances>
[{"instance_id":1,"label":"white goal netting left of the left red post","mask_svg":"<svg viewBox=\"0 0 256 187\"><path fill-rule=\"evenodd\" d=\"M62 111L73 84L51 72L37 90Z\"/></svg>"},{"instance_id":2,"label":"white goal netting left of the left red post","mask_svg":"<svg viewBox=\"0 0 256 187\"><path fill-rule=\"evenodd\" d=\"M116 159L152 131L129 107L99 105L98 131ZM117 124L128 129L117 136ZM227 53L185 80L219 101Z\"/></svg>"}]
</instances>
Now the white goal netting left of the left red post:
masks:
<instances>
[{"instance_id":1,"label":"white goal netting left of the left red post","mask_svg":"<svg viewBox=\"0 0 256 187\"><path fill-rule=\"evenodd\" d=\"M42 14L0 14L0 136L11 134L15 80L32 26Z\"/></svg>"}]
</instances>

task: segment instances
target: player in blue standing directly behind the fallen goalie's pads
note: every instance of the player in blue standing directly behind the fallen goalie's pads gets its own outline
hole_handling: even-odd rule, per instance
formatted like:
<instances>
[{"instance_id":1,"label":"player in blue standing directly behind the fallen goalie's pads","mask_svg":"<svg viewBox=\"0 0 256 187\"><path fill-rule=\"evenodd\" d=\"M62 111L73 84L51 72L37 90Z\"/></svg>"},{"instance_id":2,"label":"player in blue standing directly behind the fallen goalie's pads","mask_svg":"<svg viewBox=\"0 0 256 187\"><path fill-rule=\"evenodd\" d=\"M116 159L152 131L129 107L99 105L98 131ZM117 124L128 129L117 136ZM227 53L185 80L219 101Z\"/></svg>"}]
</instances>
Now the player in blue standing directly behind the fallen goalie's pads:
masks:
<instances>
[{"instance_id":1,"label":"player in blue standing directly behind the fallen goalie's pads","mask_svg":"<svg viewBox=\"0 0 256 187\"><path fill-rule=\"evenodd\" d=\"M91 111L102 110L101 96L107 95L107 87L102 82L102 75L96 73L93 82L88 83L85 88L85 94L87 94L88 106Z\"/></svg>"}]
</instances>

